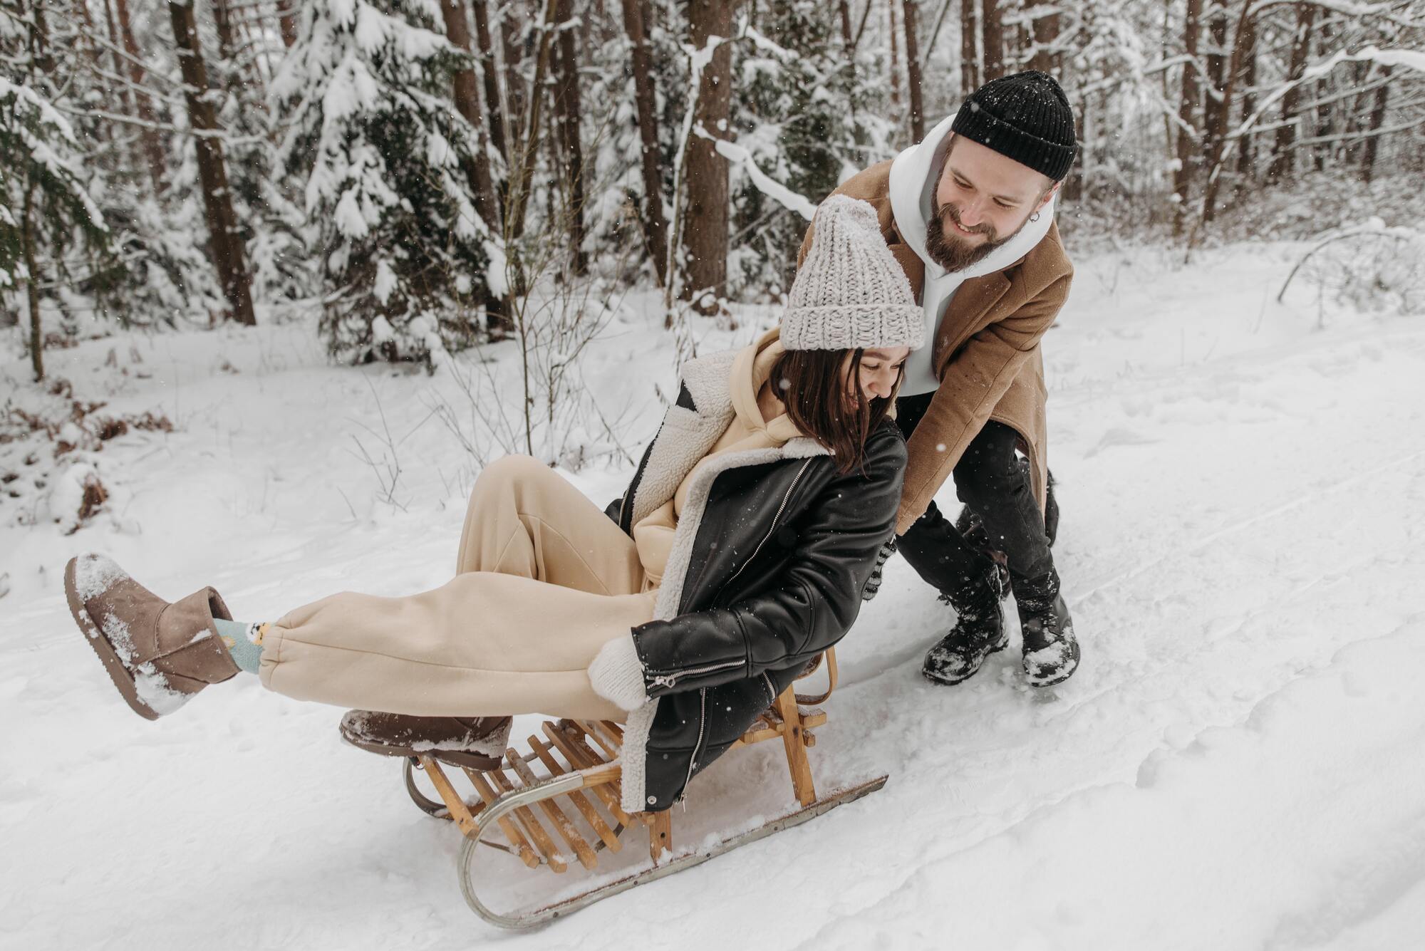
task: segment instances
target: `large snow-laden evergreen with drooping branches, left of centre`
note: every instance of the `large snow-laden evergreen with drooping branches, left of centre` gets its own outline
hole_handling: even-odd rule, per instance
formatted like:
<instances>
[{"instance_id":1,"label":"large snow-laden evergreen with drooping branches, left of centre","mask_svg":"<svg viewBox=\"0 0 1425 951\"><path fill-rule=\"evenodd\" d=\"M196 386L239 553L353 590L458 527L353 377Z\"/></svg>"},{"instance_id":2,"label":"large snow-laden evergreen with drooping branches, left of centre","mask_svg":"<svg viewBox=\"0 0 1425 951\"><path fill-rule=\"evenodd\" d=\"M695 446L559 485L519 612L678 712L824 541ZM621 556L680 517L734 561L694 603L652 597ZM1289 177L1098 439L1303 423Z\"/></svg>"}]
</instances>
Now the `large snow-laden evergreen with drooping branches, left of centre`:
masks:
<instances>
[{"instance_id":1,"label":"large snow-laden evergreen with drooping branches, left of centre","mask_svg":"<svg viewBox=\"0 0 1425 951\"><path fill-rule=\"evenodd\" d=\"M460 171L477 141L456 112L466 54L433 0L315 0L272 83L289 122L278 165L304 182L321 248L322 330L342 360L429 360L480 330L504 261Z\"/></svg>"}]
</instances>

